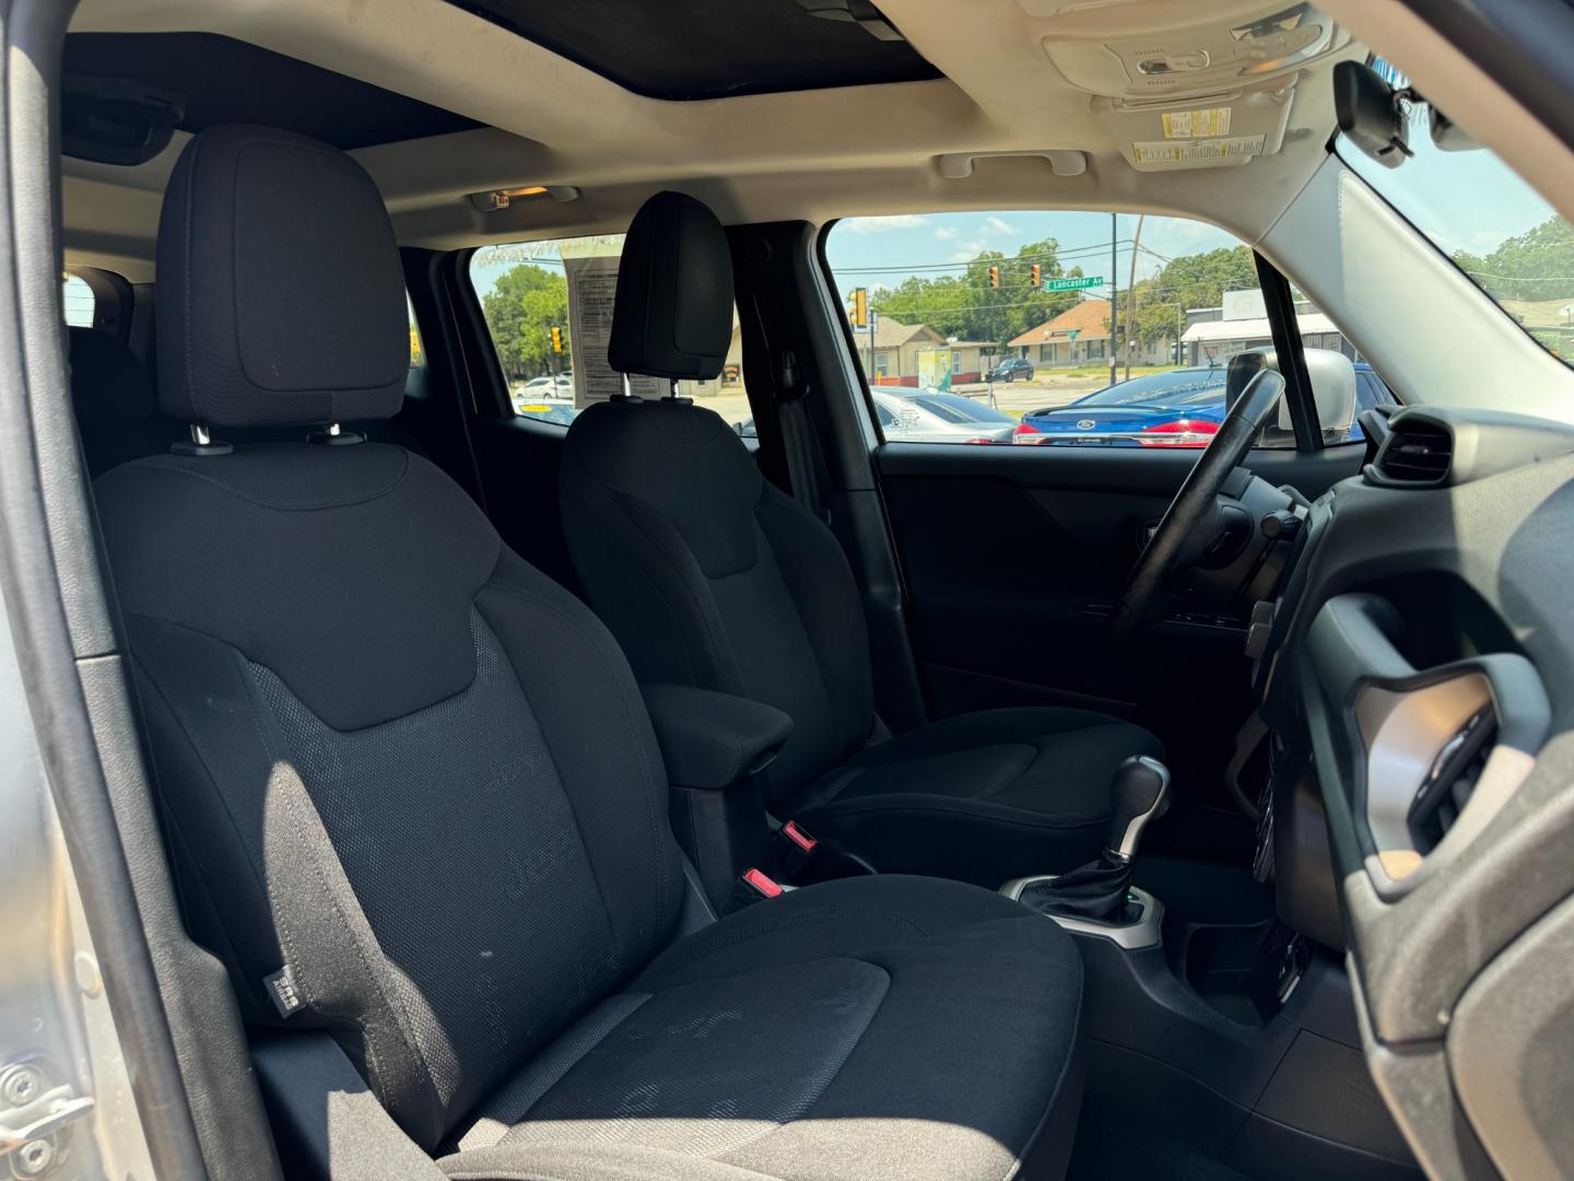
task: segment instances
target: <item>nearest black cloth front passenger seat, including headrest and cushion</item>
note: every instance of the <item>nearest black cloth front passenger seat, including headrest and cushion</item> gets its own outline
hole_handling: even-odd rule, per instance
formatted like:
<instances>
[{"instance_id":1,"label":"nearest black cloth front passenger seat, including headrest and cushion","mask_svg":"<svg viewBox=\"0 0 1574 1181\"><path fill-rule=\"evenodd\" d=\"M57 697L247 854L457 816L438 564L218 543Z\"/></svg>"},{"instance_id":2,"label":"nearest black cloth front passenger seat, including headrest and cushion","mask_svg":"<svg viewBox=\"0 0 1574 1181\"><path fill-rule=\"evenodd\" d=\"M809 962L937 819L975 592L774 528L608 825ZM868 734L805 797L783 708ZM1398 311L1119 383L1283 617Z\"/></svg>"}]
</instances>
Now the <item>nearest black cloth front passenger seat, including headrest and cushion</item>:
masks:
<instances>
[{"instance_id":1,"label":"nearest black cloth front passenger seat, including headrest and cushion","mask_svg":"<svg viewBox=\"0 0 1574 1181\"><path fill-rule=\"evenodd\" d=\"M173 419L398 409L398 254L342 153L200 132L159 274ZM438 468L280 442L94 488L194 937L250 1025L331 1033L452 1176L1064 1170L1070 937L908 877L678 937L691 887L626 660Z\"/></svg>"}]
</instances>

